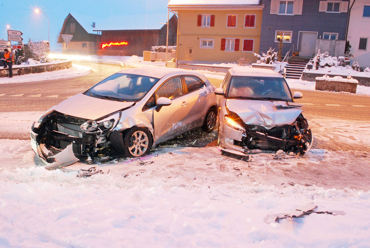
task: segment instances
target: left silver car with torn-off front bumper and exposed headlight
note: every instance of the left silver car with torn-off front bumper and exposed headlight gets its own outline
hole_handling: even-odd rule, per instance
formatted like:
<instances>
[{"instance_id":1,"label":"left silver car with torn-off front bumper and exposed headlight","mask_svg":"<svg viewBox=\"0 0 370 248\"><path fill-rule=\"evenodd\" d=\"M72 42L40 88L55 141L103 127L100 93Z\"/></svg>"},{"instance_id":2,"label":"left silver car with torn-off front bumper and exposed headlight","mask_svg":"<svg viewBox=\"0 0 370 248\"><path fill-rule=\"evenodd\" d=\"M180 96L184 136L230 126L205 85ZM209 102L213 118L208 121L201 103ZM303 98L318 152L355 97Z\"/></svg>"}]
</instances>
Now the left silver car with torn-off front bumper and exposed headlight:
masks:
<instances>
[{"instance_id":1,"label":"left silver car with torn-off front bumper and exposed headlight","mask_svg":"<svg viewBox=\"0 0 370 248\"><path fill-rule=\"evenodd\" d=\"M201 73L137 68L115 73L49 109L31 145L50 168L94 157L139 157L152 146L216 125L214 87Z\"/></svg>"}]
</instances>

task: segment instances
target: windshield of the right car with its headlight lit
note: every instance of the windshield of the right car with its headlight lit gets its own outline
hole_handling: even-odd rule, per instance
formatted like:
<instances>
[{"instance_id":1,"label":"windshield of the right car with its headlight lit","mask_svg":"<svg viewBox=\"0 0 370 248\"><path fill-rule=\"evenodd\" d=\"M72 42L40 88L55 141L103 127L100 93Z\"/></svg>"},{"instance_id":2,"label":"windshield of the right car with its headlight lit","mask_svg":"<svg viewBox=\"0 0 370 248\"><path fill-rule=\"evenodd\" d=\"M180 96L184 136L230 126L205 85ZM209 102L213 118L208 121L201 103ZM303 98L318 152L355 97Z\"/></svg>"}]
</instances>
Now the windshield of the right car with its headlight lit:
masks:
<instances>
[{"instance_id":1,"label":"windshield of the right car with its headlight lit","mask_svg":"<svg viewBox=\"0 0 370 248\"><path fill-rule=\"evenodd\" d=\"M232 76L227 97L293 102L289 87L282 77Z\"/></svg>"}]
</instances>

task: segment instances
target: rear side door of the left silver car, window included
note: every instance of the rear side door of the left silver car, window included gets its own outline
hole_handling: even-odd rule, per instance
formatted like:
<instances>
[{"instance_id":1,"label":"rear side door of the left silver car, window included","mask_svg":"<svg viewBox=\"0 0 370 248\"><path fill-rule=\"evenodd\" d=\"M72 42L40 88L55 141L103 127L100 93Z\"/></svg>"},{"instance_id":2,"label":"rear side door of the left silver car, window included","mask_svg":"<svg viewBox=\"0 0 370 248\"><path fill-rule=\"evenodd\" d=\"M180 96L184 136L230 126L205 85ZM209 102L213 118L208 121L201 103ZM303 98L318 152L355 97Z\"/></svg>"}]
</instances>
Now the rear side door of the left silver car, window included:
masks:
<instances>
[{"instance_id":1,"label":"rear side door of the left silver car, window included","mask_svg":"<svg viewBox=\"0 0 370 248\"><path fill-rule=\"evenodd\" d=\"M185 93L189 98L189 113L188 119L191 122L191 127L200 126L203 124L203 118L209 108L209 90L203 81L196 76L185 75Z\"/></svg>"}]
</instances>

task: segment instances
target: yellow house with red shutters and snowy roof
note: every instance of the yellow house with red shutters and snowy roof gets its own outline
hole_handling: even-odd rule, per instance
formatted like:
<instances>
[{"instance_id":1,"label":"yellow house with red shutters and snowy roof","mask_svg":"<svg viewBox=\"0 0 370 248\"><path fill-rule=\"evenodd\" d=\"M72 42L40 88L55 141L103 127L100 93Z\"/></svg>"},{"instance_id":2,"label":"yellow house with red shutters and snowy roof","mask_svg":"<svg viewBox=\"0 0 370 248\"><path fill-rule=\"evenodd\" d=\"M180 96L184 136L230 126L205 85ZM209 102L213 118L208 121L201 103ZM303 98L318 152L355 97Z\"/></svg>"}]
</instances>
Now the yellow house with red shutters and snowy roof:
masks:
<instances>
[{"instance_id":1,"label":"yellow house with red shutters and snowy roof","mask_svg":"<svg viewBox=\"0 0 370 248\"><path fill-rule=\"evenodd\" d=\"M259 53L260 0L170 0L178 14L177 67L182 63L230 63Z\"/></svg>"}]
</instances>

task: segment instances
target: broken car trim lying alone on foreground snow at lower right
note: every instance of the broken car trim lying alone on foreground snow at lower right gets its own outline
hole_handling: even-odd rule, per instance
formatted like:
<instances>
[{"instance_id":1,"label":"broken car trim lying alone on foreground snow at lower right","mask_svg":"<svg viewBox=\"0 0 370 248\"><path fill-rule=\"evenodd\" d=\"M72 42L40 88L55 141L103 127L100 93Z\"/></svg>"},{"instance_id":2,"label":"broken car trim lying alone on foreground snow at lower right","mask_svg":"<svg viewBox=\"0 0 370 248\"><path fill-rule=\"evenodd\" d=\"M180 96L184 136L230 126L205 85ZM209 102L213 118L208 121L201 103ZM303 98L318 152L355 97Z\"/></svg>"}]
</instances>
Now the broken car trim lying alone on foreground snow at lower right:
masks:
<instances>
[{"instance_id":1,"label":"broken car trim lying alone on foreground snow at lower right","mask_svg":"<svg viewBox=\"0 0 370 248\"><path fill-rule=\"evenodd\" d=\"M343 211L313 211L315 208L317 208L317 205L315 205L313 202L310 202L309 204L306 204L305 206L297 208L289 213L269 214L266 217L266 223L269 224L272 222L279 222L280 219L286 219L286 218L304 217L310 214L331 214L331 215L345 215L346 214Z\"/></svg>"}]
</instances>

